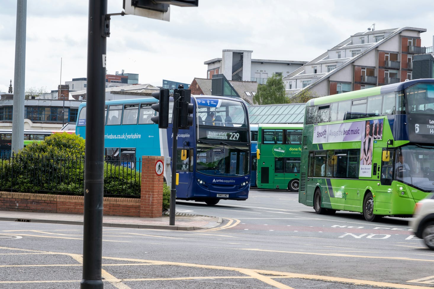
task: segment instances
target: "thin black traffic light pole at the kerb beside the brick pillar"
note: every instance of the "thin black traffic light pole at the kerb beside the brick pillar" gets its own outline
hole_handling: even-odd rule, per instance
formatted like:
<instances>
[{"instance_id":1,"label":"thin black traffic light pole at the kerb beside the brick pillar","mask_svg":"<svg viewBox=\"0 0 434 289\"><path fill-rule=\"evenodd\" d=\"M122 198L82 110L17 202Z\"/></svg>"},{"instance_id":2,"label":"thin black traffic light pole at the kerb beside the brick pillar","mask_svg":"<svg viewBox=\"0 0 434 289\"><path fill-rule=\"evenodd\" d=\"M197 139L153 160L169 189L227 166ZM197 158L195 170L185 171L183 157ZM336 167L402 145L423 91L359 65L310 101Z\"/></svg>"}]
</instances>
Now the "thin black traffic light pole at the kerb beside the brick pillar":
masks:
<instances>
[{"instance_id":1,"label":"thin black traffic light pole at the kerb beside the brick pillar","mask_svg":"<svg viewBox=\"0 0 434 289\"><path fill-rule=\"evenodd\" d=\"M170 206L169 206L169 225L175 225L175 204L176 204L176 162L178 152L178 107L179 93L173 94L173 114L172 114L172 185L170 190Z\"/></svg>"}]
</instances>

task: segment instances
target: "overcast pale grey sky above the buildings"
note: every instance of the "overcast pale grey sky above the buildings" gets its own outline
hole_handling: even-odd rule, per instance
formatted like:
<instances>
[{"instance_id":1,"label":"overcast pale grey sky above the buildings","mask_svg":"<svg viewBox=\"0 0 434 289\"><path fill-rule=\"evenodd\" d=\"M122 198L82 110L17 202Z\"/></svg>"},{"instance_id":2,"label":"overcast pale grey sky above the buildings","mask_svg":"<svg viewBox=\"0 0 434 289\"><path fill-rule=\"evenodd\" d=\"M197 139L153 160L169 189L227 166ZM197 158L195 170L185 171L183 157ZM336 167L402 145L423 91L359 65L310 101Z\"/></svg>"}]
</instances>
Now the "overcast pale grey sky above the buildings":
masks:
<instances>
[{"instance_id":1,"label":"overcast pale grey sky above the buildings","mask_svg":"<svg viewBox=\"0 0 434 289\"><path fill-rule=\"evenodd\" d=\"M14 84L16 0L1 4L0 92L7 92ZM86 77L88 5L27 1L26 90L49 92ZM108 1L108 13L121 11L122 0ZM375 30L427 29L421 38L428 47L433 19L433 0L200 0L199 7L171 6L170 22L112 16L107 73L123 69L157 86L162 79L191 83L206 78L204 61L221 58L223 49L253 50L253 59L309 61L373 23Z\"/></svg>"}]
</instances>

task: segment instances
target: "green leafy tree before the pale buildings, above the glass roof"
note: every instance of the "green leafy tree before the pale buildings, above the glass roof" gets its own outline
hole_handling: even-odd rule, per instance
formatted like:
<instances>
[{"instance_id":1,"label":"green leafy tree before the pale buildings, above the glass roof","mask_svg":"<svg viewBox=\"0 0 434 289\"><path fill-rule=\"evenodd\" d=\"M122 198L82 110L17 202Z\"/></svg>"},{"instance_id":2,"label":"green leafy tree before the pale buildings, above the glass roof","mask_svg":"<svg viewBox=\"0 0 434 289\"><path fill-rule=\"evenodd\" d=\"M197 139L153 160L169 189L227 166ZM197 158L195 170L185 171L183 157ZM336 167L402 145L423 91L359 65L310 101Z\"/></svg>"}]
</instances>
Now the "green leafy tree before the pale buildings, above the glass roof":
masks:
<instances>
[{"instance_id":1,"label":"green leafy tree before the pale buildings, above the glass roof","mask_svg":"<svg viewBox=\"0 0 434 289\"><path fill-rule=\"evenodd\" d=\"M267 79L266 84L258 85L258 90L253 96L253 103L258 105L288 103L282 76L273 73Z\"/></svg>"}]
</instances>

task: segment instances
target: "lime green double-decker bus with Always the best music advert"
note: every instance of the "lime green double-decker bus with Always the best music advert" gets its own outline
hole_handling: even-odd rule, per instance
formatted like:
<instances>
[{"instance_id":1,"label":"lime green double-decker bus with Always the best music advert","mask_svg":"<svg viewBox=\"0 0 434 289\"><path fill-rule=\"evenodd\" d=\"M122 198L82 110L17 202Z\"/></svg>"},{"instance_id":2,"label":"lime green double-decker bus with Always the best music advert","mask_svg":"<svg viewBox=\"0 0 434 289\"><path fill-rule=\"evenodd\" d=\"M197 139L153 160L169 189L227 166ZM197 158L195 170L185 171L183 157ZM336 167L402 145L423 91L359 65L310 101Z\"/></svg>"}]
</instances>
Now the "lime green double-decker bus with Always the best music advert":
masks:
<instances>
[{"instance_id":1,"label":"lime green double-decker bus with Always the best music advert","mask_svg":"<svg viewBox=\"0 0 434 289\"><path fill-rule=\"evenodd\" d=\"M434 190L434 79L306 103L299 203L367 221L409 217Z\"/></svg>"}]
</instances>

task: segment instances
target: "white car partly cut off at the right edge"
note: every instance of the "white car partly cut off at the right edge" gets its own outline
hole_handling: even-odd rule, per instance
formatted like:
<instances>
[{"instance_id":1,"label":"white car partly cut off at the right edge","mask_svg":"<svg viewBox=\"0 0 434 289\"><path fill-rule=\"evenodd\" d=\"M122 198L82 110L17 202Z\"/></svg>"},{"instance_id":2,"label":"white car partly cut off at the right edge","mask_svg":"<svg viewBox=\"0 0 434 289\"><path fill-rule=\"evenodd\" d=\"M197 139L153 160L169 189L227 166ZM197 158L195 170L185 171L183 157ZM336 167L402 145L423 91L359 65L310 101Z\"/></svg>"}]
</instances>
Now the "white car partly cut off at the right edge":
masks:
<instances>
[{"instance_id":1,"label":"white car partly cut off at the right edge","mask_svg":"<svg viewBox=\"0 0 434 289\"><path fill-rule=\"evenodd\" d=\"M410 226L414 235L424 239L428 248L434 250L434 194L416 204Z\"/></svg>"}]
</instances>

